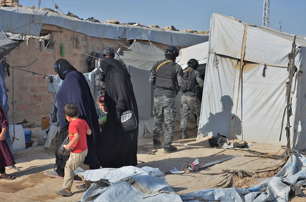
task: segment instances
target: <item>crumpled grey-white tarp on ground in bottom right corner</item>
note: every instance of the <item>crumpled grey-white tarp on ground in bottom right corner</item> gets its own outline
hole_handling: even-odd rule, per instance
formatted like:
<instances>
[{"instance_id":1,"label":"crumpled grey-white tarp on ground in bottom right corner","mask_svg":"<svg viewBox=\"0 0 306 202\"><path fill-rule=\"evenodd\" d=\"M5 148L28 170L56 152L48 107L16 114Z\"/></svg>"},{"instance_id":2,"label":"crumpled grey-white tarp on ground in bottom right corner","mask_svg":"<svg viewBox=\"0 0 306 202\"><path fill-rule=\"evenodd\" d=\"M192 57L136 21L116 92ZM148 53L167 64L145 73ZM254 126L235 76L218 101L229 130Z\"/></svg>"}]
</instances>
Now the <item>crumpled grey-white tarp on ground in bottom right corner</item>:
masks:
<instances>
[{"instance_id":1,"label":"crumpled grey-white tarp on ground in bottom right corner","mask_svg":"<svg viewBox=\"0 0 306 202\"><path fill-rule=\"evenodd\" d=\"M181 195L184 201L288 201L290 187L306 185L306 157L292 155L285 166L274 177L248 189L205 189ZM267 191L266 191L267 190Z\"/></svg>"}]
</instances>

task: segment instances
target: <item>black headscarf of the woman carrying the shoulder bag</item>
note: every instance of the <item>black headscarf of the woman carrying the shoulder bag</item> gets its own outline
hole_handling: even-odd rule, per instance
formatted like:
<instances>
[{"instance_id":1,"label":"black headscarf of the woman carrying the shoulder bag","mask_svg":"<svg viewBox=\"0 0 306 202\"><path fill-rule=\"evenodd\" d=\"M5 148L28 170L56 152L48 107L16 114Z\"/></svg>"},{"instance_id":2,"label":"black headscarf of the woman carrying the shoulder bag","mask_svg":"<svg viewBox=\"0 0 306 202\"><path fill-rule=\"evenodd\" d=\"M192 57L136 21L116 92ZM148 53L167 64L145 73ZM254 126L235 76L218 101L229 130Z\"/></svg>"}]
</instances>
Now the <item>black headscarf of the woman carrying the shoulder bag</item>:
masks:
<instances>
[{"instance_id":1,"label":"black headscarf of the woman carrying the shoulder bag","mask_svg":"<svg viewBox=\"0 0 306 202\"><path fill-rule=\"evenodd\" d=\"M109 107L110 98L114 95L114 92L111 92L113 88L110 88L110 86L114 86L115 73L118 71L122 72L123 75L128 78L127 80L129 80L131 76L122 63L114 58L103 58L100 67L105 74L105 105Z\"/></svg>"}]
</instances>

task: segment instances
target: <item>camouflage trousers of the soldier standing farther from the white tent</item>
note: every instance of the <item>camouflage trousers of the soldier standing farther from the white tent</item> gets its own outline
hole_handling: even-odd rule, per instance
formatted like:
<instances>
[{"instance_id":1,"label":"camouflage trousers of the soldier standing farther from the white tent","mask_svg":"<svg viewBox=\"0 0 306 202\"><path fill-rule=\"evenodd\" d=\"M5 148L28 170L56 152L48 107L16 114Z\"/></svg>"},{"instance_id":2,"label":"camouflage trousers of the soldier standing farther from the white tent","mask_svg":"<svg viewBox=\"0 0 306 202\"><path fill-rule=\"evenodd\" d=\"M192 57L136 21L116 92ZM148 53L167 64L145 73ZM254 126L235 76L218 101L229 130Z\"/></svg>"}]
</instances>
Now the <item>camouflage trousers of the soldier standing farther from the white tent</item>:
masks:
<instances>
[{"instance_id":1,"label":"camouflage trousers of the soldier standing farther from the white tent","mask_svg":"<svg viewBox=\"0 0 306 202\"><path fill-rule=\"evenodd\" d=\"M165 147L170 147L174 138L174 126L176 116L175 97L154 97L154 135L153 139L159 139L162 134L162 123L165 117Z\"/></svg>"}]
</instances>

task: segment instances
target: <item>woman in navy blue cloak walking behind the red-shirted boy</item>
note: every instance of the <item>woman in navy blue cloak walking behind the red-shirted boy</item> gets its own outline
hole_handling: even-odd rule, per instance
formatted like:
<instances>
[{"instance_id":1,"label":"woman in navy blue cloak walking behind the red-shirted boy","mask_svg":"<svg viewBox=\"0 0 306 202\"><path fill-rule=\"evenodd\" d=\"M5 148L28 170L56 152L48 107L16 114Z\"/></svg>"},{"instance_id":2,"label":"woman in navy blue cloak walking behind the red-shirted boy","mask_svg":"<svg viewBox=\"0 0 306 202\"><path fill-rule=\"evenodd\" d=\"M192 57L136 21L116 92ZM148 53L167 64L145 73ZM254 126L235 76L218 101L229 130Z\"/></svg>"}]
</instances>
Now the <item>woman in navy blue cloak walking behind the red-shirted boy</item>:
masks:
<instances>
[{"instance_id":1,"label":"woman in navy blue cloak walking behind the red-shirted boy","mask_svg":"<svg viewBox=\"0 0 306 202\"><path fill-rule=\"evenodd\" d=\"M56 102L58 107L58 121L60 125L60 134L55 149L57 173L59 176L64 176L64 168L69 157L62 156L58 153L59 147L69 135L69 122L65 120L63 107L68 103L76 104L79 115L78 117L87 121L91 129L91 135L86 135L88 154L84 160L84 164L90 165L91 168L100 168L96 156L96 152L102 153L100 149L100 128L95 113L95 103L92 98L88 83L82 73L77 71L67 60L58 59L54 64L54 70L63 80L62 86L56 94ZM100 142L100 143L98 143ZM98 145L98 146L95 146ZM96 150L95 150L96 149Z\"/></svg>"}]
</instances>

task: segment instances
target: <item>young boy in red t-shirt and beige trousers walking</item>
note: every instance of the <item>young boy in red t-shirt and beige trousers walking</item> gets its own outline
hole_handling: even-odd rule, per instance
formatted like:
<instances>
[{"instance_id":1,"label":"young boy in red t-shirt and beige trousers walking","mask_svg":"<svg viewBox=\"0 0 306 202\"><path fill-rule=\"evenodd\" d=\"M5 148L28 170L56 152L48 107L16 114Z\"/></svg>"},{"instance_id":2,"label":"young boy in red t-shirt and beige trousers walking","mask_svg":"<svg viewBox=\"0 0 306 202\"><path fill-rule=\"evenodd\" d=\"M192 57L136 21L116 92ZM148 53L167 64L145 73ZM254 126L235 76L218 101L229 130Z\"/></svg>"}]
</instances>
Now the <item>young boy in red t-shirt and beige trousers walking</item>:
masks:
<instances>
[{"instance_id":1,"label":"young boy in red t-shirt and beige trousers walking","mask_svg":"<svg viewBox=\"0 0 306 202\"><path fill-rule=\"evenodd\" d=\"M87 155L87 141L86 134L91 135L91 130L87 122L83 119L78 118L77 106L73 103L68 103L63 108L63 113L69 121L69 139L70 143L65 146L66 150L71 150L70 157L66 162L65 166L65 176L63 188L55 193L64 196L72 196L71 187L73 184L73 171L76 168L81 167L83 170L89 170L89 165L84 164L84 159ZM83 184L86 186L91 186L90 181L84 180L81 176Z\"/></svg>"}]
</instances>

